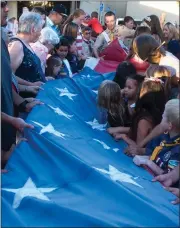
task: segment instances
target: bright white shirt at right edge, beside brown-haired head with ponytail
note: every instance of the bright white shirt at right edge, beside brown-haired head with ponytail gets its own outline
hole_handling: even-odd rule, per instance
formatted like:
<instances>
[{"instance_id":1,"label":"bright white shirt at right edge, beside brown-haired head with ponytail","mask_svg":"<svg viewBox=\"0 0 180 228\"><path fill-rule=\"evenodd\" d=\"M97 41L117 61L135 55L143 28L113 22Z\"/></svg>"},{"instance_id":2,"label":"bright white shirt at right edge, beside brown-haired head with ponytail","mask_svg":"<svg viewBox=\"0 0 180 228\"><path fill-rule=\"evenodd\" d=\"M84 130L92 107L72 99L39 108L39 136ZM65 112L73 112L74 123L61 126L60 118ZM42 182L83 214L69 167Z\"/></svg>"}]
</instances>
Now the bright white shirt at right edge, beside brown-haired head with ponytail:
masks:
<instances>
[{"instance_id":1,"label":"bright white shirt at right edge, beside brown-haired head with ponytail","mask_svg":"<svg viewBox=\"0 0 180 228\"><path fill-rule=\"evenodd\" d=\"M176 75L179 78L179 59L170 52L166 51L166 56L161 57L159 65L167 67L171 72L171 76Z\"/></svg>"}]
</instances>

